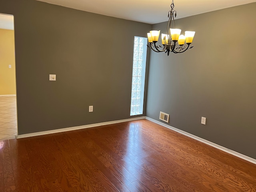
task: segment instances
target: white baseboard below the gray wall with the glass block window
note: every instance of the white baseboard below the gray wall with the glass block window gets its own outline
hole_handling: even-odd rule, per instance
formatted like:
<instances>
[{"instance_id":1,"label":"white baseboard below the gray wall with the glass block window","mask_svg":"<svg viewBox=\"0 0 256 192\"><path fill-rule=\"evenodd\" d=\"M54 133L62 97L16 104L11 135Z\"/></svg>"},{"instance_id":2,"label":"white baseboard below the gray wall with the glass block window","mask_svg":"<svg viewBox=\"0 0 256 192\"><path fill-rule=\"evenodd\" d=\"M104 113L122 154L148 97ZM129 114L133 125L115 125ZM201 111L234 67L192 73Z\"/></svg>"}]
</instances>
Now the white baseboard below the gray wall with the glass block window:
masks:
<instances>
[{"instance_id":1,"label":"white baseboard below the gray wall with the glass block window","mask_svg":"<svg viewBox=\"0 0 256 192\"><path fill-rule=\"evenodd\" d=\"M82 125L82 126L76 126L76 127L68 127L68 128L42 131L42 132L36 132L36 133L22 134L22 135L16 135L16 139L26 138L26 137L34 137L34 136L40 136L40 135L46 135L46 134L52 134L52 133L60 133L60 132L78 130L78 129L85 129L85 128L91 128L91 127L98 127L98 126L103 126L103 125L110 125L110 124L140 120L140 119L145 119L145 118L146 118L145 116L142 116L142 117L116 120L116 121L108 121L108 122L102 122L102 123L96 123L96 124L90 124L90 125Z\"/></svg>"}]
</instances>

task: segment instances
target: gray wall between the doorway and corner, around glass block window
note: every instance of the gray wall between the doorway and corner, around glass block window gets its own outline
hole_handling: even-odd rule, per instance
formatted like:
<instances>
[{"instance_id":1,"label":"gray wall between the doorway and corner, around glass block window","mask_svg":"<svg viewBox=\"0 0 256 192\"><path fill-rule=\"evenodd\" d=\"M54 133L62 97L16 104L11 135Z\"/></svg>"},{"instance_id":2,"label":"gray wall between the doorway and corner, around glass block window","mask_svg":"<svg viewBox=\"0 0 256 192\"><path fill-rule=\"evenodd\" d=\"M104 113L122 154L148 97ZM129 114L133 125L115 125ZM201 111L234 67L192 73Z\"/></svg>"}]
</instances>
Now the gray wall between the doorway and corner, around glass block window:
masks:
<instances>
[{"instance_id":1,"label":"gray wall between the doorway and corner, around glass block window","mask_svg":"<svg viewBox=\"0 0 256 192\"><path fill-rule=\"evenodd\" d=\"M1 0L0 13L14 15L19 135L134 117L133 41L150 24L36 0Z\"/></svg>"}]
</instances>

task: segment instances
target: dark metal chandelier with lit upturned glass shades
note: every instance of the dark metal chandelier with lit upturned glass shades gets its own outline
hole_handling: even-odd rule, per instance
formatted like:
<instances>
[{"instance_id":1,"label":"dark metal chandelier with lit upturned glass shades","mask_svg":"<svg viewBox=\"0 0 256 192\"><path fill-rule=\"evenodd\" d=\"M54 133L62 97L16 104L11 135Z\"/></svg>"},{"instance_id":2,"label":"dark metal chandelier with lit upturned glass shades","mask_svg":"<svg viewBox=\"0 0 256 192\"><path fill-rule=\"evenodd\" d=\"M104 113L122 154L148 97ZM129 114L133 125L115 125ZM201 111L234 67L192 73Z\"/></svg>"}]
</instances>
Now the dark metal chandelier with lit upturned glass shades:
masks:
<instances>
[{"instance_id":1,"label":"dark metal chandelier with lit upturned glass shades","mask_svg":"<svg viewBox=\"0 0 256 192\"><path fill-rule=\"evenodd\" d=\"M168 56L170 52L183 53L189 48L192 48L193 46L190 46L190 44L192 43L195 35L194 31L185 31L185 36L180 35L181 30L175 28L174 17L177 16L177 13L176 13L176 10L174 10L173 1L174 0L172 0L171 10L168 12L169 20L168 20L167 29L166 29L167 34L162 34L162 45L156 44L158 42L160 30L150 31L148 33L149 45L147 46L155 52L164 52L164 53L167 52ZM174 28L172 28L172 22L174 23ZM184 45L185 40L186 40L186 46Z\"/></svg>"}]
</instances>

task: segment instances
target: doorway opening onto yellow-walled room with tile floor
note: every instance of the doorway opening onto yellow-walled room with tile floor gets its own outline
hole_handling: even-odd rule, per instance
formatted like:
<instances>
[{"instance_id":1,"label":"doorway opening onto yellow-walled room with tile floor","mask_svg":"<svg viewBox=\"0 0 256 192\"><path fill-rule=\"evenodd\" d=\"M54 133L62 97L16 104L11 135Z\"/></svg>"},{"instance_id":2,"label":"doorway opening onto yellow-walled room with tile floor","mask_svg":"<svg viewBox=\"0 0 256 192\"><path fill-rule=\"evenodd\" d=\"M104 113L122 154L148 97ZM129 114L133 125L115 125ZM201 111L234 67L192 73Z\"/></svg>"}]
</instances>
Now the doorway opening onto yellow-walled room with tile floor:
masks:
<instances>
[{"instance_id":1,"label":"doorway opening onto yellow-walled room with tile floor","mask_svg":"<svg viewBox=\"0 0 256 192\"><path fill-rule=\"evenodd\" d=\"M0 140L17 134L14 16L0 14Z\"/></svg>"}]
</instances>

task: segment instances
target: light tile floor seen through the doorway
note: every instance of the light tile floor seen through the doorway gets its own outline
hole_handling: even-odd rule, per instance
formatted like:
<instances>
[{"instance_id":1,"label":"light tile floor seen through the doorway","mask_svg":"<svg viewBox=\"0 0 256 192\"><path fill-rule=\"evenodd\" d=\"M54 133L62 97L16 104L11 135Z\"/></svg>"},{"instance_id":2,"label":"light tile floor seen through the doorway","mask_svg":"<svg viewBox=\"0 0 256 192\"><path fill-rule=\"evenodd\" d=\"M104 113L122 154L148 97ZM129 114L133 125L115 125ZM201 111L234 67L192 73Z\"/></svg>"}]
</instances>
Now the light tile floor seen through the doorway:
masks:
<instances>
[{"instance_id":1,"label":"light tile floor seen through the doorway","mask_svg":"<svg viewBox=\"0 0 256 192\"><path fill-rule=\"evenodd\" d=\"M17 134L16 96L0 96L0 140Z\"/></svg>"}]
</instances>

